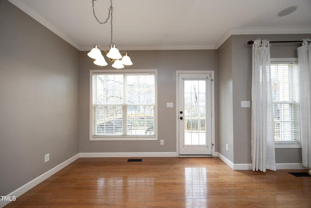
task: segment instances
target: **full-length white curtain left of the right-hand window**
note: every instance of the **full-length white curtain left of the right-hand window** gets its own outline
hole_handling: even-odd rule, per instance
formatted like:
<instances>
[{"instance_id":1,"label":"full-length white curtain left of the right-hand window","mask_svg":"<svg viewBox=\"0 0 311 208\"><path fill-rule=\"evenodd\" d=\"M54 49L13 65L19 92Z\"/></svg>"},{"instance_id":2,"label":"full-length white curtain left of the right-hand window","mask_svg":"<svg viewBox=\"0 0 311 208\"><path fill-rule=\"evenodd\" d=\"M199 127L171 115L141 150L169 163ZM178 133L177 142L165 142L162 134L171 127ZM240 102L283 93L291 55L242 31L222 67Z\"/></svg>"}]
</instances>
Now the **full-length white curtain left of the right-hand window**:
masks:
<instances>
[{"instance_id":1,"label":"full-length white curtain left of the right-hand window","mask_svg":"<svg viewBox=\"0 0 311 208\"><path fill-rule=\"evenodd\" d=\"M276 170L270 42L255 40L252 59L253 171Z\"/></svg>"}]
</instances>

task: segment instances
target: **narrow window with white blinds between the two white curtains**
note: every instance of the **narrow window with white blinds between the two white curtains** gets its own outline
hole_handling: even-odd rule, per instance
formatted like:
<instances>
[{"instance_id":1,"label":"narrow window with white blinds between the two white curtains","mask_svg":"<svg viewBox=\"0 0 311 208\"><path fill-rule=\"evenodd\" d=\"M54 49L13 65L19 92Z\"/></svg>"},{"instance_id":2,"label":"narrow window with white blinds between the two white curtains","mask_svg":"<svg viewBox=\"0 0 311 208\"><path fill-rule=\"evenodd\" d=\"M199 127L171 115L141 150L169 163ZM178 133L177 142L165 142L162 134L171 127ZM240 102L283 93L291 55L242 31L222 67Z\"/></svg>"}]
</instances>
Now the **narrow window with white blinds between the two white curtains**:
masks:
<instances>
[{"instance_id":1,"label":"narrow window with white blinds between the two white curtains","mask_svg":"<svg viewBox=\"0 0 311 208\"><path fill-rule=\"evenodd\" d=\"M273 59L272 59L273 60ZM297 62L271 62L274 139L277 143L300 140L299 72Z\"/></svg>"}]
</instances>

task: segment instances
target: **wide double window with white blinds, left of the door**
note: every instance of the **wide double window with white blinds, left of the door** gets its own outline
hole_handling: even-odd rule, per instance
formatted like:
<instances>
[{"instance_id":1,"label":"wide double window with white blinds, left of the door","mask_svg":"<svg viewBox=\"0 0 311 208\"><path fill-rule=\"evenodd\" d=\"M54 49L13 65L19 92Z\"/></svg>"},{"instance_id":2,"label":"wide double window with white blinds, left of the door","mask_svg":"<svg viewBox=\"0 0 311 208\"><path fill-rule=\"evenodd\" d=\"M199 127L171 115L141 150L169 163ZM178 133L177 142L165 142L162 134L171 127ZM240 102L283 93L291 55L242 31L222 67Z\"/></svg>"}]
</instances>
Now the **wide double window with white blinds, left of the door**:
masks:
<instances>
[{"instance_id":1,"label":"wide double window with white blinds, left of the door","mask_svg":"<svg viewBox=\"0 0 311 208\"><path fill-rule=\"evenodd\" d=\"M91 70L90 140L156 140L156 71Z\"/></svg>"}]
</instances>

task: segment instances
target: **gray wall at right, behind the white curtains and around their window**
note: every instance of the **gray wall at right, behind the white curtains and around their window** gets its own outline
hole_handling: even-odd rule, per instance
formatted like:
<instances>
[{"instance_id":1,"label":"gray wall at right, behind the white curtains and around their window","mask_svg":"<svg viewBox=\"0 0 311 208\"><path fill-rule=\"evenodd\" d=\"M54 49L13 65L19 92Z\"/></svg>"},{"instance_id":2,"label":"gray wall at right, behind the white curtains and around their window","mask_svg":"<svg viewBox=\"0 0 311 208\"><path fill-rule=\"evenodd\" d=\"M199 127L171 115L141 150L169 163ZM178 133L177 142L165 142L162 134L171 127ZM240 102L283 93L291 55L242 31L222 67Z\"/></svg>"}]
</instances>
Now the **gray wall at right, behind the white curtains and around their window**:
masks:
<instances>
[{"instance_id":1,"label":"gray wall at right, behind the white curtains and around their window","mask_svg":"<svg viewBox=\"0 0 311 208\"><path fill-rule=\"evenodd\" d=\"M221 121L219 123L219 152L226 155L225 143L232 142L234 146L233 157L227 157L234 164L250 164L251 163L251 108L241 108L242 100L251 101L251 67L252 67L252 46L247 45L248 40L255 40L258 38L273 40L301 40L303 38L310 38L311 34L286 34L286 35L233 35L219 48L219 63L226 62L224 67L219 67L219 97L225 97L228 102L231 97L226 95L226 92L220 89L225 88L227 82L223 79L225 75L221 72L226 71L232 73L232 113L233 121L228 121L227 126L233 126L233 138L221 136L225 130L228 133L231 129L226 129ZM231 43L230 43L231 41ZM231 47L230 47L231 44ZM272 58L281 57L297 57L296 43L273 43L270 48ZM225 50L225 52L223 51ZM225 54L228 54L227 56ZM230 56L231 54L231 56ZM232 57L230 65L229 58ZM227 63L228 62L228 63ZM220 65L220 64L219 64ZM228 75L227 75L228 76ZM223 101L219 101L220 120L224 119L221 112L225 108ZM228 104L229 105L229 104ZM231 110L230 110L231 111ZM224 134L224 133L223 133ZM301 163L301 149L276 149L276 163Z\"/></svg>"}]
</instances>

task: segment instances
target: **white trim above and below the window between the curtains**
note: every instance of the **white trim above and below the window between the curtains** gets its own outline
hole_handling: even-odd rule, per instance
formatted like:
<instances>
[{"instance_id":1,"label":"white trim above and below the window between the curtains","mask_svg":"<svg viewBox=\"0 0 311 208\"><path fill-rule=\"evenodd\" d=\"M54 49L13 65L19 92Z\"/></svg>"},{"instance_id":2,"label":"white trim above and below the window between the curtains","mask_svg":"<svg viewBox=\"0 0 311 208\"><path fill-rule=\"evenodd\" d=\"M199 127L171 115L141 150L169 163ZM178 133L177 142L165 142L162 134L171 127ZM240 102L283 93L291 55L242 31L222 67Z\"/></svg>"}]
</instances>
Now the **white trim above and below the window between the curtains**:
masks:
<instances>
[{"instance_id":1,"label":"white trim above and below the window between the curtains","mask_svg":"<svg viewBox=\"0 0 311 208\"><path fill-rule=\"evenodd\" d=\"M271 58L271 63L291 63L297 62L298 58ZM297 141L275 141L275 148L276 149L298 149L301 148L301 138Z\"/></svg>"}]
</instances>

